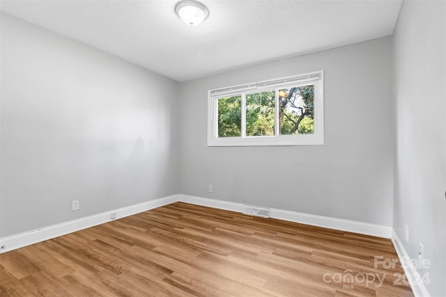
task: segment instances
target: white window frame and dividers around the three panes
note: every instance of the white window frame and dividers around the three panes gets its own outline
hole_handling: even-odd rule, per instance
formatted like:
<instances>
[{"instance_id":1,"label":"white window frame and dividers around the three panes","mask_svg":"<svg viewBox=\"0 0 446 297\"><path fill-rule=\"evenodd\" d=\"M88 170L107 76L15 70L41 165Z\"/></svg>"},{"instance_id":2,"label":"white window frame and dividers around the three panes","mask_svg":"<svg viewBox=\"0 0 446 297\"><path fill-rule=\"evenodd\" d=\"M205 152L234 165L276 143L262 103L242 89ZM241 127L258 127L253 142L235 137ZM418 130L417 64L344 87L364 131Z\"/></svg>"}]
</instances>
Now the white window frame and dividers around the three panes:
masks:
<instances>
[{"instance_id":1,"label":"white window frame and dividers around the three panes","mask_svg":"<svg viewBox=\"0 0 446 297\"><path fill-rule=\"evenodd\" d=\"M314 133L279 135L279 88L292 88L314 84ZM246 95L266 90L276 90L275 94L275 135L245 136L246 129ZM218 99L241 95L242 123L241 136L218 137ZM208 146L259 146L259 145L323 145L323 70L299 74L293 77L282 77L267 81L245 83L208 90Z\"/></svg>"}]
</instances>

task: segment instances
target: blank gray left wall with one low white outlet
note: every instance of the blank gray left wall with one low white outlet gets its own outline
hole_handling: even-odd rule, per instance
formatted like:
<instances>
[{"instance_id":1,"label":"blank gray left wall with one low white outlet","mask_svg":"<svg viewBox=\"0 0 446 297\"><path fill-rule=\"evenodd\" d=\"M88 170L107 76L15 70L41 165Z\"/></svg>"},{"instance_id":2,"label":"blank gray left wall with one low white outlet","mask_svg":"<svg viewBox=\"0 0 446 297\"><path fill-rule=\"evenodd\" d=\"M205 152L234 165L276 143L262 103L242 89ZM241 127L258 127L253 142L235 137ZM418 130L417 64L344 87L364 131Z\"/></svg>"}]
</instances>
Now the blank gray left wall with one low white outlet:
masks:
<instances>
[{"instance_id":1,"label":"blank gray left wall with one low white outlet","mask_svg":"<svg viewBox=\"0 0 446 297\"><path fill-rule=\"evenodd\" d=\"M2 13L0 236L178 193L177 99L176 81Z\"/></svg>"}]
</instances>

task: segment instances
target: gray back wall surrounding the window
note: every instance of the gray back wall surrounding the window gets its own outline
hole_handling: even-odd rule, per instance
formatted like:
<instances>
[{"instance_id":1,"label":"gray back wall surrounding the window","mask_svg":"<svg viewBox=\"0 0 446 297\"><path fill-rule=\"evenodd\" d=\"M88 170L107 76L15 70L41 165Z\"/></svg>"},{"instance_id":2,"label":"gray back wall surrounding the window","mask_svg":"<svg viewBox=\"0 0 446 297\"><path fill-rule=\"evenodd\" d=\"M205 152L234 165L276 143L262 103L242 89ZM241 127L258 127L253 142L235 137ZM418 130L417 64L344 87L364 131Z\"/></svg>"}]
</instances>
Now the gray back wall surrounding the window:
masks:
<instances>
[{"instance_id":1,"label":"gray back wall surrounding the window","mask_svg":"<svg viewBox=\"0 0 446 297\"><path fill-rule=\"evenodd\" d=\"M324 145L206 146L208 89L315 70L325 70ZM391 73L380 38L180 83L180 193L391 226Z\"/></svg>"}]
</instances>

